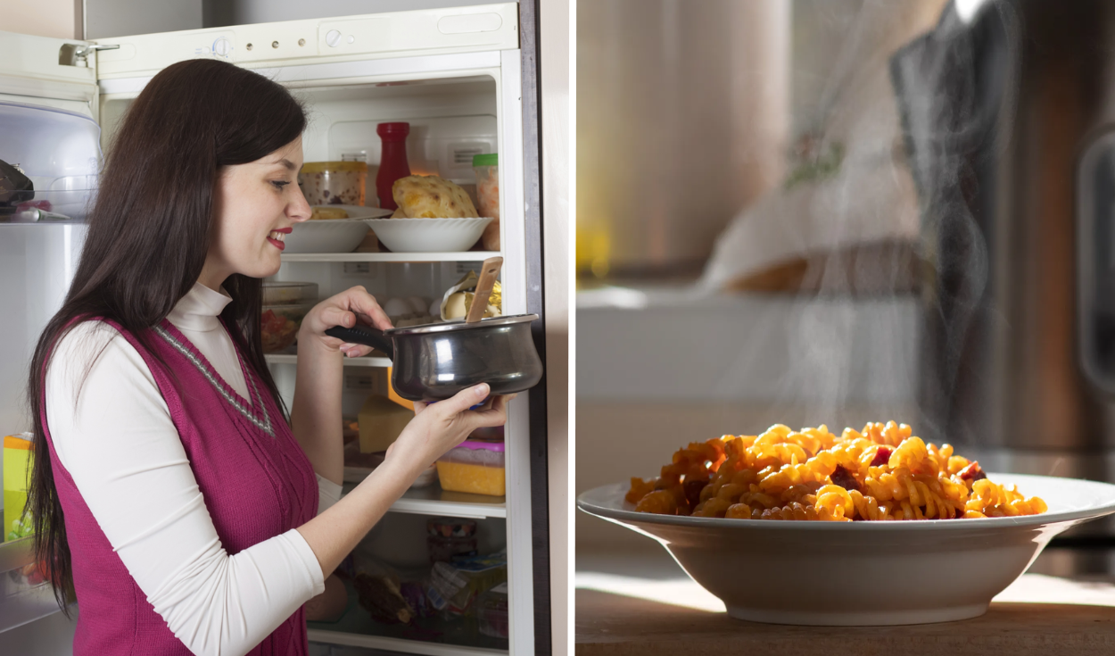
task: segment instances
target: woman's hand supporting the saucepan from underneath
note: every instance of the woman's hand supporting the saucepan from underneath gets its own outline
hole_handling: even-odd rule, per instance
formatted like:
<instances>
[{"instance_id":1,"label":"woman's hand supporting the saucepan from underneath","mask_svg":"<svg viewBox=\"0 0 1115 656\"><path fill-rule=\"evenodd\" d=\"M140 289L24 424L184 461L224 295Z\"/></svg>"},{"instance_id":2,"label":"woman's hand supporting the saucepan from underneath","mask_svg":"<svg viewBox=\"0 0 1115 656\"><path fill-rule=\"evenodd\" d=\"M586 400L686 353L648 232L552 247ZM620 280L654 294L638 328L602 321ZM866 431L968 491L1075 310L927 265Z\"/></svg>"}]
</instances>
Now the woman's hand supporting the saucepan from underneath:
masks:
<instances>
[{"instance_id":1,"label":"woman's hand supporting the saucepan from underneath","mask_svg":"<svg viewBox=\"0 0 1115 656\"><path fill-rule=\"evenodd\" d=\"M482 383L433 405L415 403L415 418L387 450L384 464L404 467L413 480L476 428L504 425L507 402L514 394L495 396L483 407L468 409L485 401L488 392L488 385Z\"/></svg>"}]
</instances>

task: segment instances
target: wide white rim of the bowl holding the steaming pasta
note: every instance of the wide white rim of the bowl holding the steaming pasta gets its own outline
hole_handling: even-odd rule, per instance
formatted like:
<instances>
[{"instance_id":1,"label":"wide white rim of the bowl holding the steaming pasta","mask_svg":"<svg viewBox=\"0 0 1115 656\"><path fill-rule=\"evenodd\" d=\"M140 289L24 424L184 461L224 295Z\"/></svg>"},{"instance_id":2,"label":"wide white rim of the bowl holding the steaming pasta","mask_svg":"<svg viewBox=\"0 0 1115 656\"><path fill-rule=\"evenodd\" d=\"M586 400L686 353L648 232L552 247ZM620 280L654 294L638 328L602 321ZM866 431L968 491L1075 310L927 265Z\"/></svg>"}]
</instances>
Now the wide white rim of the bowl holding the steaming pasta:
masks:
<instances>
[{"instance_id":1,"label":"wide white rim of the bowl holding the steaming pasta","mask_svg":"<svg viewBox=\"0 0 1115 656\"><path fill-rule=\"evenodd\" d=\"M1041 514L1028 514L1020 517L993 517L966 519L960 521L886 521L886 522L823 522L823 521L772 521L772 520L744 520L724 519L706 517L683 517L669 514L653 514L649 512L636 512L627 508L614 508L612 505L601 505L601 503L612 502L619 499L623 507L630 503L623 501L623 494L630 489L629 483L610 483L600 485L591 490L585 490L576 495L576 508L582 512L631 524L661 524L669 527L708 528L708 529L748 529L748 530L775 530L775 531L953 531L969 530L973 528L992 527L1038 527L1061 522L1080 521L1096 519L1106 514L1115 513L1115 485L1099 481L1088 481L1085 479L1069 479L1065 476L1039 476L1034 474L1010 474L1002 472L988 472L989 479L996 482L1007 482L1022 486L1027 481L1074 481L1086 486L1097 486L1107 492L1108 501L1060 512L1044 512ZM1105 489L1105 490L1104 490ZM604 496L604 500L600 498Z\"/></svg>"}]
</instances>

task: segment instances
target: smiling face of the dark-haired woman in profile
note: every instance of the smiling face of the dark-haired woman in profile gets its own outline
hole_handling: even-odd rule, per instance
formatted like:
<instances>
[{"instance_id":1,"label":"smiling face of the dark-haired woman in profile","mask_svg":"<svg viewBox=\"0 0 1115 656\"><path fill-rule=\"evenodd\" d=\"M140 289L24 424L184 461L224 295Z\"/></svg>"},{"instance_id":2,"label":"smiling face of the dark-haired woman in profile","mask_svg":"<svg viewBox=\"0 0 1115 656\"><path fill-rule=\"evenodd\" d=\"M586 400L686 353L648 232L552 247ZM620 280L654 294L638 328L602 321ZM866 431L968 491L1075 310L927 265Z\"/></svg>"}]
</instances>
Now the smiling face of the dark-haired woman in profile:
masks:
<instances>
[{"instance_id":1,"label":"smiling face of the dark-haired woman in profile","mask_svg":"<svg viewBox=\"0 0 1115 656\"><path fill-rule=\"evenodd\" d=\"M265 278L279 271L282 240L310 218L298 186L302 137L248 164L226 166L213 196L216 226L201 282L217 289L233 273Z\"/></svg>"}]
</instances>

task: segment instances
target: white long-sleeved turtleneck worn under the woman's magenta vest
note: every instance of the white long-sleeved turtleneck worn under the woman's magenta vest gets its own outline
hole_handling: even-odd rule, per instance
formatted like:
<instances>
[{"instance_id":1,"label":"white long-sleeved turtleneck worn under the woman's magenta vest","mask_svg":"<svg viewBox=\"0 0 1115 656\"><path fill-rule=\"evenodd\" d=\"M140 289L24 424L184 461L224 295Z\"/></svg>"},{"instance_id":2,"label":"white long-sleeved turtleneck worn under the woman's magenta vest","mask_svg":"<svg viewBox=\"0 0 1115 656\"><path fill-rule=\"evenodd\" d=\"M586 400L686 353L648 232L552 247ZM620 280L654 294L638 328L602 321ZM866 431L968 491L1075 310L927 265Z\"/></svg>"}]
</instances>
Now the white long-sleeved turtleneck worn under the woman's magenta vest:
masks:
<instances>
[{"instance_id":1,"label":"white long-sleeved turtleneck worn under the woman's magenta vest","mask_svg":"<svg viewBox=\"0 0 1115 656\"><path fill-rule=\"evenodd\" d=\"M195 283L167 319L250 399L217 320L231 300ZM321 566L297 530L227 554L155 378L116 329L85 321L59 340L46 394L58 459L139 589L191 652L244 654L324 590ZM318 489L320 513L341 486L318 475Z\"/></svg>"}]
</instances>

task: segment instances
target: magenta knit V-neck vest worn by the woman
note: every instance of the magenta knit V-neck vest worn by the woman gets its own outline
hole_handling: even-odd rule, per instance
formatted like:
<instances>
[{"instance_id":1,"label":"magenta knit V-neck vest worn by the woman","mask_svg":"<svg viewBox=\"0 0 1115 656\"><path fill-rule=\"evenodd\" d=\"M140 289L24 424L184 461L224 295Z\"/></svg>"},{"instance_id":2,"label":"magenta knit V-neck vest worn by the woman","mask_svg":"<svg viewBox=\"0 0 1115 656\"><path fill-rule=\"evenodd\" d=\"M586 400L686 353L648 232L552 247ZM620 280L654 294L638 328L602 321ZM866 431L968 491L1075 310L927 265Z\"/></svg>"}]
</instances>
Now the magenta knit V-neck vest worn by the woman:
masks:
<instances>
[{"instance_id":1,"label":"magenta knit V-neck vest worn by the woman","mask_svg":"<svg viewBox=\"0 0 1115 656\"><path fill-rule=\"evenodd\" d=\"M134 335L114 321L106 322L139 351L158 384L216 533L230 556L317 514L313 469L263 382L239 350L251 404L221 379L205 356L169 321L154 328L151 337L176 377ZM46 427L46 404L41 421ZM191 652L171 633L113 551L69 472L59 463L49 430L46 436L66 517L79 608L75 656L188 656ZM166 567L175 569L178 565L167 562ZM299 608L249 654L293 656L304 655L308 649L306 615Z\"/></svg>"}]
</instances>

